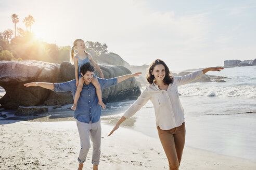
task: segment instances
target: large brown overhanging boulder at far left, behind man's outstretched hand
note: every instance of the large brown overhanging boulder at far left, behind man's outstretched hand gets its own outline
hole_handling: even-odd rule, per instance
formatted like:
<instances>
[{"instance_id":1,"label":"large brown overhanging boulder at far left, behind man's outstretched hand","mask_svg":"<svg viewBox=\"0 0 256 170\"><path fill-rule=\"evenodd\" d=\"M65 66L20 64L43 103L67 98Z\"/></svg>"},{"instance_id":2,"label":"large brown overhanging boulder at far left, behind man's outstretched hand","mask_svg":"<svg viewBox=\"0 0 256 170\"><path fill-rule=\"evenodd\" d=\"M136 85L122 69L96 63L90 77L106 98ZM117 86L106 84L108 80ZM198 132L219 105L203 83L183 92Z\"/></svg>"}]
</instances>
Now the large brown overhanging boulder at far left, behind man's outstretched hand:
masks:
<instances>
[{"instance_id":1,"label":"large brown overhanging boulder at far left, behind man's outstretched hand","mask_svg":"<svg viewBox=\"0 0 256 170\"><path fill-rule=\"evenodd\" d=\"M43 103L50 91L37 87L25 88L23 83L56 82L58 74L58 64L34 60L0 61L0 86L6 91L0 104L6 109L16 109L18 106L34 106Z\"/></svg>"}]
</instances>

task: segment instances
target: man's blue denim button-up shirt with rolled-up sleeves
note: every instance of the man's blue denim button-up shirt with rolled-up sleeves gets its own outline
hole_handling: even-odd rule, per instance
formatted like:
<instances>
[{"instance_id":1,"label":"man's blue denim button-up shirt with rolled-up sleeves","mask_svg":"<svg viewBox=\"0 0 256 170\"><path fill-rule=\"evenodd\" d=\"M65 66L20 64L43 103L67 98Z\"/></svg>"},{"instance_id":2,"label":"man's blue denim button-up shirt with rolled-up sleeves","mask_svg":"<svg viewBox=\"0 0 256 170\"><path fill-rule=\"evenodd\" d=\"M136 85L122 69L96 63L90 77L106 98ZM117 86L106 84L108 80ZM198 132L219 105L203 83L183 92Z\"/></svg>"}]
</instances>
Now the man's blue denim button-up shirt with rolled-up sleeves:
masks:
<instances>
[{"instance_id":1,"label":"man's blue denim button-up shirt with rolled-up sleeves","mask_svg":"<svg viewBox=\"0 0 256 170\"><path fill-rule=\"evenodd\" d=\"M98 78L101 92L103 89L108 88L112 85L117 84L117 78L112 79L101 79ZM75 80L71 80L68 82L63 83L54 83L53 91L56 92L67 92L71 91L73 94L73 98L76 91ZM74 111L74 118L81 122L95 123L99 121L101 115L101 106L98 104L98 97L96 94L96 88L93 86L92 83L86 85L84 83L83 89L80 93L80 97L78 100L78 105Z\"/></svg>"}]
</instances>

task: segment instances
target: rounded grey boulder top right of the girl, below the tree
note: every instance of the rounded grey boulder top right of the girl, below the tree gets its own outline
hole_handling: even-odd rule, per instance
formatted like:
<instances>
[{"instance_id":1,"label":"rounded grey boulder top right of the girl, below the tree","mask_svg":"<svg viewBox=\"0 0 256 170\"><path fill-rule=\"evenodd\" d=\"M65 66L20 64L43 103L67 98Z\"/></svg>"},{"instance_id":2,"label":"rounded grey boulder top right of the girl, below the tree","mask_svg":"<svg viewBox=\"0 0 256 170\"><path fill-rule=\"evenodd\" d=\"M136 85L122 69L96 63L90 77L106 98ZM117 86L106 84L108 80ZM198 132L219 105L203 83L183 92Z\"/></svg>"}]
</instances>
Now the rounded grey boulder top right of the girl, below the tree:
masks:
<instances>
[{"instance_id":1,"label":"rounded grey boulder top right of the girl, below the tree","mask_svg":"<svg viewBox=\"0 0 256 170\"><path fill-rule=\"evenodd\" d=\"M100 54L98 57L96 57L96 60L99 63L106 63L110 65L124 66L124 63L125 63L124 60L121 58L121 56L113 52Z\"/></svg>"}]
</instances>

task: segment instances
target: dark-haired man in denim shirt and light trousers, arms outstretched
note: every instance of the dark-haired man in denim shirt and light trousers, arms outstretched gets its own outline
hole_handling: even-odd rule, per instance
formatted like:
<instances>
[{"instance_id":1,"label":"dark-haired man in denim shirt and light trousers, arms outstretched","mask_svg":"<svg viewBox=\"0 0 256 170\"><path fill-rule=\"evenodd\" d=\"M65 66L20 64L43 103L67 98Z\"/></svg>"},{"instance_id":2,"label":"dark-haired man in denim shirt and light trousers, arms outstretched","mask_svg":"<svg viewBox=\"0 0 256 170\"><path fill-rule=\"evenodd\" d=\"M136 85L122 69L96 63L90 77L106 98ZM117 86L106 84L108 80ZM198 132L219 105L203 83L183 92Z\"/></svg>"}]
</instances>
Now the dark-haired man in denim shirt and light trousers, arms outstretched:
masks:
<instances>
[{"instance_id":1,"label":"dark-haired man in denim shirt and light trousers, arms outstretched","mask_svg":"<svg viewBox=\"0 0 256 170\"><path fill-rule=\"evenodd\" d=\"M91 83L93 79L93 73L95 71L94 67L90 63L84 64L81 69L81 75L84 78L84 86L81 91L78 105L74 111L74 118L76 119L76 124L78 126L81 150L79 153L79 168L82 170L83 163L86 160L87 153L90 146L90 135L93 142L93 157L92 164L93 169L98 169L99 157L100 157L100 141L101 141L101 125L100 125L100 115L101 107L98 104L98 97L96 94L96 89ZM101 79L98 78L101 90L115 85L127 78L138 76L141 73L129 74L120 77L115 77L112 79ZM75 80L71 80L63 83L47 83L47 82L31 82L24 84L26 87L30 86L40 86L45 89L63 92L71 91L73 98L76 91Z\"/></svg>"}]
</instances>

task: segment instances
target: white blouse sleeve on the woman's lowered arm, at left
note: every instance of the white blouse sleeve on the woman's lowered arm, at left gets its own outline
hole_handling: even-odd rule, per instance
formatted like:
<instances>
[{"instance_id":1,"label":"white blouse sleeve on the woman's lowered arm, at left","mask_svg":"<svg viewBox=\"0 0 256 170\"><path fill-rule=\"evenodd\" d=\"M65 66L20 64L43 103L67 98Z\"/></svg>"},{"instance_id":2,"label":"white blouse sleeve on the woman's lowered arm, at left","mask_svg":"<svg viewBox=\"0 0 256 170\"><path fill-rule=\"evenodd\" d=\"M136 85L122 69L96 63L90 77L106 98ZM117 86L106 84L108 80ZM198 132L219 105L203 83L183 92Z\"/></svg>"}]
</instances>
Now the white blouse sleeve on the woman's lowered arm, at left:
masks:
<instances>
[{"instance_id":1,"label":"white blouse sleeve on the woman's lowered arm, at left","mask_svg":"<svg viewBox=\"0 0 256 170\"><path fill-rule=\"evenodd\" d=\"M151 95L148 90L148 87L146 87L142 94L137 98L137 100L129 107L128 110L126 110L123 114L123 116L128 119L132 117L140 108L142 108L150 99Z\"/></svg>"}]
</instances>

